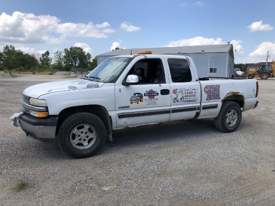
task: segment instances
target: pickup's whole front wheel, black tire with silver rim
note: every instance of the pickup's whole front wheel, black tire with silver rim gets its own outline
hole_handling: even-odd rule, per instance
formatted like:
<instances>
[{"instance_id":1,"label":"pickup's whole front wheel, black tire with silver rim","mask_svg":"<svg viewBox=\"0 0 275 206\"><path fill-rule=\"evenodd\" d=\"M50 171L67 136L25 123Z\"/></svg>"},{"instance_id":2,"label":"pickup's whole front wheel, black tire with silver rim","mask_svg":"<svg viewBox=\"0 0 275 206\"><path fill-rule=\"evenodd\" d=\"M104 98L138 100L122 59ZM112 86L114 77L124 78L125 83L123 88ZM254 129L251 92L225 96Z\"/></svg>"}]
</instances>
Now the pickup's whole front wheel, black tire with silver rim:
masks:
<instances>
[{"instance_id":1,"label":"pickup's whole front wheel, black tire with silver rim","mask_svg":"<svg viewBox=\"0 0 275 206\"><path fill-rule=\"evenodd\" d=\"M91 113L74 113L61 123L57 138L65 154L73 158L90 157L103 147L106 128L101 119Z\"/></svg>"}]
</instances>

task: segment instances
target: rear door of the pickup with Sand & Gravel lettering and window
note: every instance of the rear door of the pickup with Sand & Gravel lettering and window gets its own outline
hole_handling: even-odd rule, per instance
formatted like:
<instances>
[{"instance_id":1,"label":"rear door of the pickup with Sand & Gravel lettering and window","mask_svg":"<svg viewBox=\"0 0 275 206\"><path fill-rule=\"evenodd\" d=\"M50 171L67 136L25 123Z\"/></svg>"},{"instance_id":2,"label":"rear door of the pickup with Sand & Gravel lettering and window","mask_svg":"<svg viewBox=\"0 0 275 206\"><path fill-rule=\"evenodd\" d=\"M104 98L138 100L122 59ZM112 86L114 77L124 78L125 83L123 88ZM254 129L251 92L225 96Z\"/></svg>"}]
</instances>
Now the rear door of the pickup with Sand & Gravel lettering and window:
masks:
<instances>
[{"instance_id":1,"label":"rear door of the pickup with Sand & Gravel lettering and window","mask_svg":"<svg viewBox=\"0 0 275 206\"><path fill-rule=\"evenodd\" d=\"M169 120L193 118L199 111L200 87L193 69L185 56L166 58L171 88L171 114Z\"/></svg>"}]
</instances>

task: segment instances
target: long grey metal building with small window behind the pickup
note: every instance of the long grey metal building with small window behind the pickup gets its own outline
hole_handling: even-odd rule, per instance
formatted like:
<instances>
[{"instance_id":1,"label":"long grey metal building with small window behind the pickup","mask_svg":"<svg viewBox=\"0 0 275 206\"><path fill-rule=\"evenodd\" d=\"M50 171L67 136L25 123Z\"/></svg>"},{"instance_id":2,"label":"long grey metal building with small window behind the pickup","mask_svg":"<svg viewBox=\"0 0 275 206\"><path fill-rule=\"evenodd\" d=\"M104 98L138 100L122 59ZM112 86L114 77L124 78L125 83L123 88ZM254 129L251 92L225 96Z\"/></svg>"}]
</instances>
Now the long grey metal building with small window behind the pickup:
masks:
<instances>
[{"instance_id":1,"label":"long grey metal building with small window behind the pickup","mask_svg":"<svg viewBox=\"0 0 275 206\"><path fill-rule=\"evenodd\" d=\"M153 54L177 54L190 56L199 77L232 77L234 74L234 52L232 44L175 46L152 48L116 49L97 56L97 65L108 57L136 54L140 50L151 50Z\"/></svg>"}]
</instances>

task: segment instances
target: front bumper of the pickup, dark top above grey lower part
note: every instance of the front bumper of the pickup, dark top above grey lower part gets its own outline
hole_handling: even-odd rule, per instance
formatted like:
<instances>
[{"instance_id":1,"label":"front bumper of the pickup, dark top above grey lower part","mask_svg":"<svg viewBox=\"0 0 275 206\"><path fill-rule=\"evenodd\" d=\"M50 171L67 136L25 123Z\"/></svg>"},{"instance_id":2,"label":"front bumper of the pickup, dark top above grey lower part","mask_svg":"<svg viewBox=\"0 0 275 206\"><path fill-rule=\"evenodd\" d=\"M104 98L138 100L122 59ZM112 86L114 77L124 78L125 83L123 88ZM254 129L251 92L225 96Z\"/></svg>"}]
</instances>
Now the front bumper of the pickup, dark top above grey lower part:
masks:
<instances>
[{"instance_id":1,"label":"front bumper of the pickup, dark top above grey lower part","mask_svg":"<svg viewBox=\"0 0 275 206\"><path fill-rule=\"evenodd\" d=\"M22 108L20 111L22 111ZM27 136L41 141L54 141L57 120L58 117L41 119L29 114L22 114L19 123Z\"/></svg>"}]
</instances>

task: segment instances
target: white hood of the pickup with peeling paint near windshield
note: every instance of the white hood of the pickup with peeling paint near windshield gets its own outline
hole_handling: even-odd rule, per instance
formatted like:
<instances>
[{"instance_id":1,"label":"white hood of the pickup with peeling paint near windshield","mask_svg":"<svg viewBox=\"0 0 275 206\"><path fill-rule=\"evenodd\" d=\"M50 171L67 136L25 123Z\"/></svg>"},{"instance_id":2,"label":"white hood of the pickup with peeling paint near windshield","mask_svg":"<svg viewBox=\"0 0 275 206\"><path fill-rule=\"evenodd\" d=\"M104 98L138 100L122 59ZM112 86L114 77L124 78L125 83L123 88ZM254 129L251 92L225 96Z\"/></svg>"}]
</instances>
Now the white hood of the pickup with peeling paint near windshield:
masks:
<instances>
[{"instance_id":1,"label":"white hood of the pickup with peeling paint near windshield","mask_svg":"<svg viewBox=\"0 0 275 206\"><path fill-rule=\"evenodd\" d=\"M40 95L46 93L75 89L99 88L103 84L103 82L90 81L85 79L51 81L29 86L23 91L23 94L33 98L38 98Z\"/></svg>"}]
</instances>

